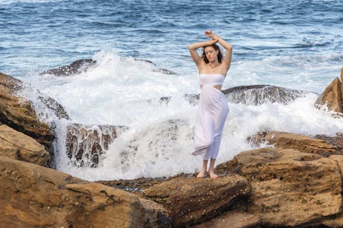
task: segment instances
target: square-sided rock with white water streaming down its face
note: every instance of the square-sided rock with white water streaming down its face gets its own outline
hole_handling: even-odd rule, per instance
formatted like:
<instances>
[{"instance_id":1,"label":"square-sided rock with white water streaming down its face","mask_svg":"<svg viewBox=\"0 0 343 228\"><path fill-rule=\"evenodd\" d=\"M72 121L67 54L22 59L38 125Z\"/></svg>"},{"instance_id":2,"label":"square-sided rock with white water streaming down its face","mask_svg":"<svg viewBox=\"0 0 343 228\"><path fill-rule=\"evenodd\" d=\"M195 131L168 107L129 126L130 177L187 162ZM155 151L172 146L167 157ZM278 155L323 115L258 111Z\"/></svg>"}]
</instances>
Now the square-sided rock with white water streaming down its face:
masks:
<instances>
[{"instance_id":1,"label":"square-sided rock with white water streaming down its face","mask_svg":"<svg viewBox=\"0 0 343 228\"><path fill-rule=\"evenodd\" d=\"M84 126L80 124L67 127L67 156L74 166L97 167L108 150L108 144L117 138L120 126Z\"/></svg>"}]
</instances>

